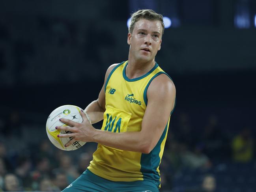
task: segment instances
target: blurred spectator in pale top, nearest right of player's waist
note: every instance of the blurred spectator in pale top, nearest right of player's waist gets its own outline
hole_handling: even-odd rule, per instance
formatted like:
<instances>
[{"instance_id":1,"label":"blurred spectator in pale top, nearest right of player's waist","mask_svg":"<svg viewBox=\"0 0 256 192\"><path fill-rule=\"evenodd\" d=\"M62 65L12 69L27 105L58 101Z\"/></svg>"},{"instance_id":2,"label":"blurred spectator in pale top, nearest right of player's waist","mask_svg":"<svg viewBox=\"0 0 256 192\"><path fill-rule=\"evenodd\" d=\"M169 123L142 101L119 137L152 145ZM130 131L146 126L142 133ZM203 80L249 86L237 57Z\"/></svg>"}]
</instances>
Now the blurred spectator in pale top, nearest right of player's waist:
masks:
<instances>
[{"instance_id":1,"label":"blurred spectator in pale top, nearest right of player's waist","mask_svg":"<svg viewBox=\"0 0 256 192\"><path fill-rule=\"evenodd\" d=\"M209 169L211 167L211 161L209 158L202 153L203 146L202 144L197 144L194 147L194 151L185 151L181 155L181 160L183 165L191 169Z\"/></svg>"}]
</instances>

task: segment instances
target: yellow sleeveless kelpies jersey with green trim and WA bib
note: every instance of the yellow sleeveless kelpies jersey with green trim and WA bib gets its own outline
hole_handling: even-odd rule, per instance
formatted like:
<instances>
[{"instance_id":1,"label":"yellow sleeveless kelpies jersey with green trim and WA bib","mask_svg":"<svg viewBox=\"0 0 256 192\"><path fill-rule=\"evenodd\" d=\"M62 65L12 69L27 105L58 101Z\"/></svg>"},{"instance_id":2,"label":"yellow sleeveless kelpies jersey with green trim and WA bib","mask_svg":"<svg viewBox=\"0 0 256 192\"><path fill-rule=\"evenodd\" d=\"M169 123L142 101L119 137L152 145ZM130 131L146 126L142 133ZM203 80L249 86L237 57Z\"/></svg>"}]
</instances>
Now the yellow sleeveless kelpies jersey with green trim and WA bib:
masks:
<instances>
[{"instance_id":1,"label":"yellow sleeveless kelpies jersey with green trim and WA bib","mask_svg":"<svg viewBox=\"0 0 256 192\"><path fill-rule=\"evenodd\" d=\"M146 94L148 86L156 76L164 73L156 63L155 67L145 75L129 79L125 74L127 64L128 61L118 64L107 78L106 111L101 130L140 131L148 101ZM159 165L163 156L169 121L170 118L166 122L159 142L149 154L98 144L88 169L95 175L111 181L149 180L160 187Z\"/></svg>"}]
</instances>

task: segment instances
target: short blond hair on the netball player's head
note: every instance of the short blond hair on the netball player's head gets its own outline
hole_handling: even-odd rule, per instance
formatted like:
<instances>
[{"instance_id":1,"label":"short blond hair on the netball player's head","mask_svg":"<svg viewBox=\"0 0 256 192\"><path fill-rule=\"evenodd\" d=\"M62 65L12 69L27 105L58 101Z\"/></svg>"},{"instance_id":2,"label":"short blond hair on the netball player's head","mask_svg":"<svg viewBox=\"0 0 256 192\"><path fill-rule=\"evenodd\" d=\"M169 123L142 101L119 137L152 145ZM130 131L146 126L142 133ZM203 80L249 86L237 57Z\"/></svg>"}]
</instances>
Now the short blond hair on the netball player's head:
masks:
<instances>
[{"instance_id":1,"label":"short blond hair on the netball player's head","mask_svg":"<svg viewBox=\"0 0 256 192\"><path fill-rule=\"evenodd\" d=\"M156 13L151 9L140 9L131 15L131 24L129 26L129 33L133 33L135 23L140 19L158 20L162 25L162 35L164 34L164 21L163 15Z\"/></svg>"}]
</instances>

